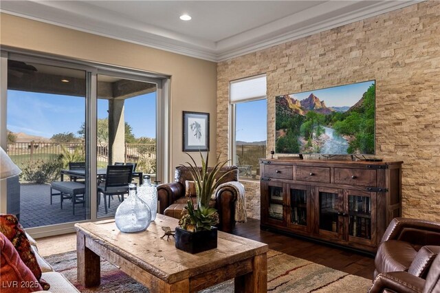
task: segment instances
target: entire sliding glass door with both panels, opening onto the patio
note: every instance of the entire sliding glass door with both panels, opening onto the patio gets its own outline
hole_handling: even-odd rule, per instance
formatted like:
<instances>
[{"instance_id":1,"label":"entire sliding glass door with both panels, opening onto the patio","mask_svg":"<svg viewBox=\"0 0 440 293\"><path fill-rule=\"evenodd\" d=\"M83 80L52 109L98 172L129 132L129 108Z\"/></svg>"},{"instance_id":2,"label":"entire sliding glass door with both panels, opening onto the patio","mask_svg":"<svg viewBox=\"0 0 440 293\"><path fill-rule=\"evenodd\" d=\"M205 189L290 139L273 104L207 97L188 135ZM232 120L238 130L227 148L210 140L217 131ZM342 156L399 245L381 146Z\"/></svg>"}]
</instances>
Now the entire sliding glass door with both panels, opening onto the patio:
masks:
<instances>
[{"instance_id":1,"label":"entire sliding glass door with both panels, opening onto the patio","mask_svg":"<svg viewBox=\"0 0 440 293\"><path fill-rule=\"evenodd\" d=\"M1 147L21 175L0 182L1 213L37 237L114 217L107 166L162 180L168 112L162 79L131 69L1 52ZM158 119L160 118L160 119ZM160 133L160 135L157 135ZM126 196L126 195L125 195Z\"/></svg>"}]
</instances>

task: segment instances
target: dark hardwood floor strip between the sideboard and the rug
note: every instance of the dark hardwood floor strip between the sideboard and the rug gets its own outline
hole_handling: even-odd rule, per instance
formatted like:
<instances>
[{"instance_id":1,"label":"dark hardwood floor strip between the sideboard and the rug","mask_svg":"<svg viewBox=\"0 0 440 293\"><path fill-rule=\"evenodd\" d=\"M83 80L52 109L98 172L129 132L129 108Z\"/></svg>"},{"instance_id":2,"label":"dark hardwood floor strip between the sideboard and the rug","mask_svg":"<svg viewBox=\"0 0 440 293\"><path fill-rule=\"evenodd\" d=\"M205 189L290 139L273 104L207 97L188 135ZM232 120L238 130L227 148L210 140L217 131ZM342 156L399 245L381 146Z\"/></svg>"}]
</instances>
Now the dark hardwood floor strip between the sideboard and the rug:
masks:
<instances>
[{"instance_id":1,"label":"dark hardwood floor strip between the sideboard and the rug","mask_svg":"<svg viewBox=\"0 0 440 293\"><path fill-rule=\"evenodd\" d=\"M260 230L260 221L248 219L248 223L237 223L234 235L267 243L270 249L307 259L326 267L373 279L374 259L350 250L335 248L313 241Z\"/></svg>"}]
</instances>

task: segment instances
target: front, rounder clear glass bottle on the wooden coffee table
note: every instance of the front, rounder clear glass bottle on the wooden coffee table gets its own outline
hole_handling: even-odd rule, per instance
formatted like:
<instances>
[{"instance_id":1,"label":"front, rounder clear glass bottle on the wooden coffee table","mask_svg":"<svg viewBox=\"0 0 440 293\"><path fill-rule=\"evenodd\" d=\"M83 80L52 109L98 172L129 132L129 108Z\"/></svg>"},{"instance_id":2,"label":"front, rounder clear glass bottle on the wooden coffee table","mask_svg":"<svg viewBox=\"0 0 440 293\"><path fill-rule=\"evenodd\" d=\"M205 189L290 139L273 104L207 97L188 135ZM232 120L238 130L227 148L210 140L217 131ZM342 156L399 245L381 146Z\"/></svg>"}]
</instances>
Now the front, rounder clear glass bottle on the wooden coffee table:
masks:
<instances>
[{"instance_id":1,"label":"front, rounder clear glass bottle on the wooden coffee table","mask_svg":"<svg viewBox=\"0 0 440 293\"><path fill-rule=\"evenodd\" d=\"M118 206L115 224L122 232L140 232L150 226L151 210L136 194L136 185L129 184L129 197Z\"/></svg>"}]
</instances>

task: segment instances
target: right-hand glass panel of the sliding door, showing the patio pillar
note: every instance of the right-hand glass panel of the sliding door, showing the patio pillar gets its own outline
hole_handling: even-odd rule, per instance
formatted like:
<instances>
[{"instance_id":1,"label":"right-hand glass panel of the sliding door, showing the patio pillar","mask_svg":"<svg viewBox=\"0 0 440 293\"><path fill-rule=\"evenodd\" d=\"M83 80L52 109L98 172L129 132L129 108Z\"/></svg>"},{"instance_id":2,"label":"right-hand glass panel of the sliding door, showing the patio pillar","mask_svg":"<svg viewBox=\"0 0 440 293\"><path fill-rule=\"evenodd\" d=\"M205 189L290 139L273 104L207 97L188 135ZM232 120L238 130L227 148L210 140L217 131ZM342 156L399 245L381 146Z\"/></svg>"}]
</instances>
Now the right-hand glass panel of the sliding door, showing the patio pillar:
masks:
<instances>
[{"instance_id":1,"label":"right-hand glass panel of the sliding door, showing the patio pillar","mask_svg":"<svg viewBox=\"0 0 440 293\"><path fill-rule=\"evenodd\" d=\"M96 168L98 177L107 166L131 164L133 183L142 175L156 178L157 84L127 74L98 72ZM98 182L98 217L114 217L124 197L107 195L109 182ZM107 206L104 205L107 203Z\"/></svg>"}]
</instances>

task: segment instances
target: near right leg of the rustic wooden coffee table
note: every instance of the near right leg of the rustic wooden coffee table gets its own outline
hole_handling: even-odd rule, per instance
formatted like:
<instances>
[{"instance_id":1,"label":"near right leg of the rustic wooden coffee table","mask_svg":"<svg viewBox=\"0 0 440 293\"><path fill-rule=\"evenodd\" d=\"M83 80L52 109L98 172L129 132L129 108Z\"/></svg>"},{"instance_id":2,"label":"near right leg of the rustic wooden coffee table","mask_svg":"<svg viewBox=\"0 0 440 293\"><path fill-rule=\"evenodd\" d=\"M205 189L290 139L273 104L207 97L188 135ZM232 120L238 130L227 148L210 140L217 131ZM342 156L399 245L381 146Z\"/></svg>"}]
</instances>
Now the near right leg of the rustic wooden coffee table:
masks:
<instances>
[{"instance_id":1,"label":"near right leg of the rustic wooden coffee table","mask_svg":"<svg viewBox=\"0 0 440 293\"><path fill-rule=\"evenodd\" d=\"M237 276L234 280L234 292L267 292L267 255L254 257L254 270L249 274Z\"/></svg>"}]
</instances>

